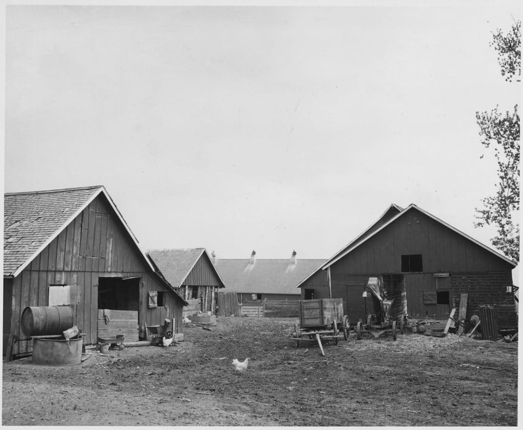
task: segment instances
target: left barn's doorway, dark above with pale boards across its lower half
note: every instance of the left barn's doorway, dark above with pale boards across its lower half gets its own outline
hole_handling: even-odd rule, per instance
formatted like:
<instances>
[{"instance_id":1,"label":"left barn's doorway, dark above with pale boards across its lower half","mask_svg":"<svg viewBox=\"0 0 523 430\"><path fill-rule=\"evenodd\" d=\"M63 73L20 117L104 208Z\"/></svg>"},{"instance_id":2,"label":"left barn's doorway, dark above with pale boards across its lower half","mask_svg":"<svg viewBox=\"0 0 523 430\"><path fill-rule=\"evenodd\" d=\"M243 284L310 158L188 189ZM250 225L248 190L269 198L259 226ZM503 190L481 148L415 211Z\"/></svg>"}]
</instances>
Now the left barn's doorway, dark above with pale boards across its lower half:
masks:
<instances>
[{"instance_id":1,"label":"left barn's doorway, dark above with pale boards across its lower half","mask_svg":"<svg viewBox=\"0 0 523 430\"><path fill-rule=\"evenodd\" d=\"M98 337L139 340L140 277L98 277Z\"/></svg>"}]
</instances>

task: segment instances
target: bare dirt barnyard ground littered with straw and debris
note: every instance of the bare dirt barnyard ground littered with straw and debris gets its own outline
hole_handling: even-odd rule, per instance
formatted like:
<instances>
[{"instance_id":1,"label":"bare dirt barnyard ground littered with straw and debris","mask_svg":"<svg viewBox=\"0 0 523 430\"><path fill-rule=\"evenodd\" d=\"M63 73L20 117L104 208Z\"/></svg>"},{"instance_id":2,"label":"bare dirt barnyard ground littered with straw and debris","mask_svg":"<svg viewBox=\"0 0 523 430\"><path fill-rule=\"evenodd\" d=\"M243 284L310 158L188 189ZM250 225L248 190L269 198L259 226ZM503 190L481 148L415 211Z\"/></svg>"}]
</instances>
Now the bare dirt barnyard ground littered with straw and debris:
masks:
<instances>
[{"instance_id":1,"label":"bare dirt barnyard ground littered with straw and debris","mask_svg":"<svg viewBox=\"0 0 523 430\"><path fill-rule=\"evenodd\" d=\"M110 351L113 362L4 363L2 424L517 425L517 343L351 334L322 357L289 340L293 321L219 317L212 332L185 327L175 347Z\"/></svg>"}]
</instances>

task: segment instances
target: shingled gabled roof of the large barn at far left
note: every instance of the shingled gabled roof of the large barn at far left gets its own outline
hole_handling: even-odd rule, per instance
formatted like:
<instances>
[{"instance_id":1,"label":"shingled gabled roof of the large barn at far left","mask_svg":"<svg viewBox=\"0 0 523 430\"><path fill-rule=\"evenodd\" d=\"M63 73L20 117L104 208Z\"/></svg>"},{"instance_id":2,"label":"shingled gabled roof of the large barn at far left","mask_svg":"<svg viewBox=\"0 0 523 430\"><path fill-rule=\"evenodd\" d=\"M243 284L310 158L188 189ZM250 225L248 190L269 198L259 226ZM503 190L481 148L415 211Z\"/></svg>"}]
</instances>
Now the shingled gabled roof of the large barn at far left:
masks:
<instances>
[{"instance_id":1,"label":"shingled gabled roof of the large barn at far left","mask_svg":"<svg viewBox=\"0 0 523 430\"><path fill-rule=\"evenodd\" d=\"M147 264L151 262L103 185L4 195L4 276L18 276L100 194L109 201Z\"/></svg>"}]
</instances>

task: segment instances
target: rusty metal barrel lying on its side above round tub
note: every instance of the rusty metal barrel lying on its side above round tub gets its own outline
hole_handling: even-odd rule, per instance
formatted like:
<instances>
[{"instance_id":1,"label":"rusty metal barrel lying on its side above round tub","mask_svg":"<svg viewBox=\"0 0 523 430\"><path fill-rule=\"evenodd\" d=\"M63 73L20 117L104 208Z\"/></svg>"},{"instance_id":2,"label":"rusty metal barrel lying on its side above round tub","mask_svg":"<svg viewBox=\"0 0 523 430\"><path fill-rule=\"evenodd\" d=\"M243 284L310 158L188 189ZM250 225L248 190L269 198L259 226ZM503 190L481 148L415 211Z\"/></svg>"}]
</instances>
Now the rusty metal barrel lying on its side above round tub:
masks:
<instances>
[{"instance_id":1,"label":"rusty metal barrel lying on its side above round tub","mask_svg":"<svg viewBox=\"0 0 523 430\"><path fill-rule=\"evenodd\" d=\"M21 331L26 337L62 334L73 325L69 306L28 306L22 312Z\"/></svg>"}]
</instances>

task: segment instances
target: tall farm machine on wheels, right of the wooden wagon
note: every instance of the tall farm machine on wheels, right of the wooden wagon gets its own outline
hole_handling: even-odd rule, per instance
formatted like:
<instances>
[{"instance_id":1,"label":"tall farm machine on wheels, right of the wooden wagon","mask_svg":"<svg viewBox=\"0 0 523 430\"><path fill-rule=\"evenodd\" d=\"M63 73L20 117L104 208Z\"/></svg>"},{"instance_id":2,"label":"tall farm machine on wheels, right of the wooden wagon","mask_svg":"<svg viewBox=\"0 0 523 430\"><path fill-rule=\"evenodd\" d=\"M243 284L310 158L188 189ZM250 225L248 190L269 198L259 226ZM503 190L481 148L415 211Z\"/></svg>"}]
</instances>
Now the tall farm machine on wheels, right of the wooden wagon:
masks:
<instances>
[{"instance_id":1,"label":"tall farm machine on wheels, right of the wooden wagon","mask_svg":"<svg viewBox=\"0 0 523 430\"><path fill-rule=\"evenodd\" d=\"M369 313L369 315L367 316L367 324L363 324L361 320L358 321L355 330L356 339L360 341L363 337L364 332L371 333L376 338L381 336L383 333L389 332L392 333L392 338L396 340L398 331L406 333L407 330L406 315L395 315L395 310L397 309L396 300L399 299L383 299L381 297L381 284L378 278L369 278L367 287L372 294L372 304L374 312Z\"/></svg>"}]
</instances>

